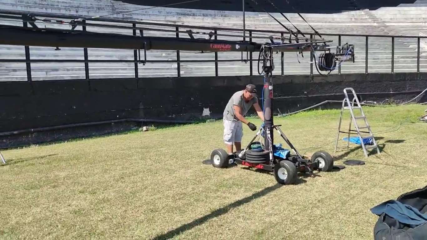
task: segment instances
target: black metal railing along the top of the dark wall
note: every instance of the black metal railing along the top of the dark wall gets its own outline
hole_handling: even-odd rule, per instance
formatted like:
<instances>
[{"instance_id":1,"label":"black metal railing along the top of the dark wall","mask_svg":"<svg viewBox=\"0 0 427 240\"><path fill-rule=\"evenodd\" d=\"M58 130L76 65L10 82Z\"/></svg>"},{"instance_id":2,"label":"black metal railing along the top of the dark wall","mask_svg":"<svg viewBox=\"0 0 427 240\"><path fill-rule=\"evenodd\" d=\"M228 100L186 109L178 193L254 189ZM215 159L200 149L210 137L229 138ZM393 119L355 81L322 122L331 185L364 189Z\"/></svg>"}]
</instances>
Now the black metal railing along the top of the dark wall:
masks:
<instances>
[{"instance_id":1,"label":"black metal railing along the top of the dark wall","mask_svg":"<svg viewBox=\"0 0 427 240\"><path fill-rule=\"evenodd\" d=\"M47 13L37 13L34 14L34 16L38 17L47 17L47 18L61 18L61 19L76 19L80 18L82 16L71 16L71 15L58 15L58 14L47 14ZM28 20L28 17L26 14L23 14L23 12L15 12L15 11L3 11L0 10L0 19L2 20L15 20L15 21L21 21L22 26L28 27L29 23L36 23L37 21ZM42 19L42 21L39 20L39 23L42 23L46 19ZM113 19L113 18L97 18L97 19L91 19L90 21L97 22L97 23L88 23L88 21L83 20L82 23L78 26L82 26L82 31L86 31L87 27L99 27L99 28L113 28L113 29L129 29L132 30L133 36L137 35L137 30L140 32L140 36L143 36L144 30L149 31L155 31L155 32L170 32L175 33L176 38L180 38L181 34L188 34L187 31L183 31L182 29L203 29L203 30L210 30L210 34L213 34L214 39L218 39L218 36L223 37L230 37L235 36L231 34L218 34L218 31L228 31L228 32L234 32L234 33L240 33L243 32L242 29L234 29L234 28L223 28L223 27L207 27L207 26L191 26L191 25L177 25L177 24L168 24L168 23L152 23L152 22L145 22L145 21L135 21L135 20L119 20L119 19ZM106 24L106 23L126 23L129 24L129 26L123 26L123 25L113 25L113 24ZM175 30L169 30L169 29L156 29L156 28L147 28L147 27L137 27L138 25L150 25L150 26L162 26L162 27L175 27ZM268 39L268 35L274 35L278 38L283 38L286 35L289 35L289 32L286 31L274 31L274 30L261 30L261 29L245 29L246 36L249 35L249 41L253 41L254 38L256 39ZM196 33L195 33L196 34ZM207 34L207 33L205 33ZM254 34L258 34L255 36ZM265 35L265 36L264 36ZM310 35L310 38L315 37L313 32L304 32L304 35ZM390 41L392 43L392 53L391 53L391 71L390 73L395 72L395 38L416 38L417 39L417 73L420 72L420 42L422 39L422 42L427 42L427 36L426 35L419 35L419 36L408 36L408 35L363 35L363 34L331 34L331 33L322 33L323 36L337 36L338 37L338 44L341 45L342 37L364 37L365 38L365 73L369 73L369 38L373 37L380 37L380 38L390 38ZM243 36L242 36L243 38ZM357 46L356 46L357 47ZM133 60L97 60L97 59L89 59L88 58L88 48L83 49L83 55L84 60L81 59L31 59L30 56L30 49L29 46L25 46L25 59L0 59L0 62L20 62L20 63L26 63L26 73L27 73L27 81L32 81L32 74L31 74L31 63L46 63L46 62L73 62L73 63L84 63L85 64L85 79L90 79L89 77L89 63L134 63L135 67L135 78L139 78L138 76L138 64L140 63L177 63L177 76L181 76L181 63L187 63L187 62L214 62L215 64L215 76L219 76L219 70L218 70L218 63L219 62L249 62L249 76L253 76L253 62L258 61L257 58L253 58L252 52L249 53L249 59L218 59L218 52L214 52L214 60L182 60L180 58L180 51L176 51L176 60L149 60L146 59L146 50L144 50L144 59L141 60L140 56L140 50L134 50ZM310 54L310 75L315 74L313 71L313 53ZM342 68L339 66L338 68L338 74L341 73ZM285 75L284 73L284 53L281 53L281 75Z\"/></svg>"}]
</instances>

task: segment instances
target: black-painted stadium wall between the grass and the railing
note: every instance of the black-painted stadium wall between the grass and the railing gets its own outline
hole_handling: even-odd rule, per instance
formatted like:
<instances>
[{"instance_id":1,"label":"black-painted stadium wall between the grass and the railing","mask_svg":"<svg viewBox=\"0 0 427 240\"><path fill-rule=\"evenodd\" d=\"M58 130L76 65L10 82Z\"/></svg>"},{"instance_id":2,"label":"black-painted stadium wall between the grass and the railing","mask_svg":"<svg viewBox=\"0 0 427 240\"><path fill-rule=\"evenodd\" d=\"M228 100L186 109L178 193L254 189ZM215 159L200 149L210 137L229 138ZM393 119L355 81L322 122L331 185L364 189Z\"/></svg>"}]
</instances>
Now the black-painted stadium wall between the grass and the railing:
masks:
<instances>
[{"instance_id":1,"label":"black-painted stadium wall between the grass and the railing","mask_svg":"<svg viewBox=\"0 0 427 240\"><path fill-rule=\"evenodd\" d=\"M274 113L297 111L325 100L342 100L346 87L354 88L362 100L401 102L427 88L426 79L427 73L274 76ZM261 93L261 76L0 82L0 132L29 130L0 135L0 148L93 135L89 134L90 129L73 134L69 131L61 137L55 134L49 139L31 135L31 129L50 126L120 119L221 119L231 95L249 83L257 85ZM423 98L421 101L427 102ZM322 108L340 105L328 104ZM120 130L130 126L122 126ZM117 131L107 129L102 131Z\"/></svg>"}]
</instances>

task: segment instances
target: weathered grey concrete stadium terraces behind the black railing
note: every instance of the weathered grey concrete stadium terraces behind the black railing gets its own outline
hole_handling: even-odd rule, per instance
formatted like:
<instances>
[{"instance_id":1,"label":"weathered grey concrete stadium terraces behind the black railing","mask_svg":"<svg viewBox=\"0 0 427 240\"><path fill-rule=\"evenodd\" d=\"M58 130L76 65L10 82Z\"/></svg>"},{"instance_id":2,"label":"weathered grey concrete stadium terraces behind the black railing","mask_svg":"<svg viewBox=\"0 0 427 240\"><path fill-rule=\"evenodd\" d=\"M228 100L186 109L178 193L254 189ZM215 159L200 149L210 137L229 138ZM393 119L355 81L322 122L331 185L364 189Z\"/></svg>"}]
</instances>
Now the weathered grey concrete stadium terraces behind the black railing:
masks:
<instances>
[{"instance_id":1,"label":"weathered grey concrete stadium terraces behind the black railing","mask_svg":"<svg viewBox=\"0 0 427 240\"><path fill-rule=\"evenodd\" d=\"M329 34L377 34L377 35L415 35L427 34L427 6L423 1L418 5L405 5L401 7L380 8L375 11L353 11L339 14L303 14L304 18L320 33ZM419 5L421 4L421 6ZM427 4L427 3L426 3ZM0 9L26 12L47 12L56 14L95 16L117 12L142 9L120 1L110 0L88 0L88 1L43 1L38 0L0 0ZM291 26L280 14L274 14L286 26ZM287 17L303 32L312 32L310 27L296 14L286 14ZM155 8L130 13L108 16L108 18L143 20L153 23L173 23L179 25L216 26L243 29L243 18L241 12L225 11L196 11L192 9ZM88 21L90 22L90 21ZM20 22L1 20L0 24L14 24L21 26ZM49 23L38 23L40 26L53 26ZM68 25L59 25L69 29ZM155 29L170 29L173 27L146 26ZM58 27L55 25L55 27ZM268 29L283 31L284 29L266 13L246 13L246 29ZM132 30L88 27L88 31L111 32L132 35ZM180 30L188 30L182 28ZM209 32L208 30L192 29L193 31ZM219 34L236 35L233 32L218 31ZM174 32L144 31L147 36L175 37ZM242 35L240 33L239 35ZM276 34L277 35L277 34ZM180 33L181 37L188 35ZM268 39L256 38L268 35L254 34L253 41L264 42ZM195 35L195 37L206 38L206 35ZM333 40L331 45L338 44L337 36L323 36L325 39ZM241 40L242 38L224 37L219 39ZM342 37L342 43L355 45L356 60L354 63L345 62L342 65L342 73L364 73L365 72L365 37ZM391 38L371 37L369 38L368 71L370 73L383 73L391 71ZM420 71L427 71L426 49L421 45ZM1 59L25 59L24 47L22 46L0 46ZM143 51L141 51L141 54ZM254 59L258 54L254 53ZM304 58L296 53L284 54L284 74L310 74L310 54L304 53ZM55 50L53 47L30 46L31 59L80 59L83 60L83 49L61 48ZM89 59L111 59L111 60L133 60L133 50L106 50L89 49ZM141 59L143 56L141 56ZM241 59L241 53L218 53L218 58ZM243 54L246 59L246 53ZM214 60L213 53L193 53L181 51L181 60ZM176 51L147 51L147 60L176 60ZM298 63L298 60L300 63ZM395 72L415 72L417 70L417 39L395 38ZM280 53L275 59L275 75L281 74ZM249 75L249 62L219 62L219 76L243 76ZM257 62L253 62L253 74L257 75ZM215 76L215 63L191 63L182 62L181 76ZM56 79L84 79L84 63L32 63L33 80L56 80ZM316 69L313 67L314 73ZM177 63L147 63L138 66L139 77L174 77L177 76ZM332 72L333 74L338 71ZM135 77L134 63L89 63L89 76L91 78L124 78ZM25 63L0 62L0 81L25 81Z\"/></svg>"}]
</instances>

